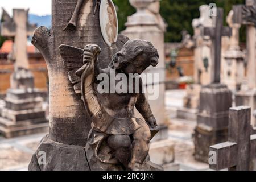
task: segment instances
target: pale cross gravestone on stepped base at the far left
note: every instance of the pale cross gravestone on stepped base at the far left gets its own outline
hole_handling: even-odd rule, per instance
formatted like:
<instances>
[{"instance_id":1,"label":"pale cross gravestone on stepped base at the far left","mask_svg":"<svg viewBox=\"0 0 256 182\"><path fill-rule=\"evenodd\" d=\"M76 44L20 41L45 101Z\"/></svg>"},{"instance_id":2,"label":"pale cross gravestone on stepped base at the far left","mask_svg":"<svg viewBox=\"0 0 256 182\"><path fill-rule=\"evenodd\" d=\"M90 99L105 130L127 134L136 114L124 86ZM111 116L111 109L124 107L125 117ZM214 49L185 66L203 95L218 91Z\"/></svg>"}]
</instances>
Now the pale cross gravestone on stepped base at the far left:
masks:
<instances>
[{"instance_id":1,"label":"pale cross gravestone on stepped base at the far left","mask_svg":"<svg viewBox=\"0 0 256 182\"><path fill-rule=\"evenodd\" d=\"M34 76L29 70L27 36L36 26L29 24L27 18L28 10L23 9L14 9L13 18L5 10L2 14L1 35L14 39L9 59L15 61L0 118L0 131L7 138L48 130L42 93L34 87Z\"/></svg>"}]
</instances>

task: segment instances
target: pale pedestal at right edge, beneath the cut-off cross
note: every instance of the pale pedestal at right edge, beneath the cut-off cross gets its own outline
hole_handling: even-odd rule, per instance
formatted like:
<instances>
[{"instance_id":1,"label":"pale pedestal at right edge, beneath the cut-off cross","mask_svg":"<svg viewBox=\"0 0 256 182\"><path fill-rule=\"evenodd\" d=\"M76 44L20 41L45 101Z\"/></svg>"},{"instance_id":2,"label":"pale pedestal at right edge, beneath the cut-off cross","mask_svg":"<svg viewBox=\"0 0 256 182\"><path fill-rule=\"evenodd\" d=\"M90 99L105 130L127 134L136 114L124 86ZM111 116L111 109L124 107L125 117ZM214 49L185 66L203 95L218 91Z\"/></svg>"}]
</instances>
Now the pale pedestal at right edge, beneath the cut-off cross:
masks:
<instances>
[{"instance_id":1,"label":"pale pedestal at right edge, beneath the cut-off cross","mask_svg":"<svg viewBox=\"0 0 256 182\"><path fill-rule=\"evenodd\" d=\"M256 110L256 88L249 90L240 90L235 96L236 106L249 106L251 107L251 124L256 129L256 118L253 116Z\"/></svg>"}]
</instances>

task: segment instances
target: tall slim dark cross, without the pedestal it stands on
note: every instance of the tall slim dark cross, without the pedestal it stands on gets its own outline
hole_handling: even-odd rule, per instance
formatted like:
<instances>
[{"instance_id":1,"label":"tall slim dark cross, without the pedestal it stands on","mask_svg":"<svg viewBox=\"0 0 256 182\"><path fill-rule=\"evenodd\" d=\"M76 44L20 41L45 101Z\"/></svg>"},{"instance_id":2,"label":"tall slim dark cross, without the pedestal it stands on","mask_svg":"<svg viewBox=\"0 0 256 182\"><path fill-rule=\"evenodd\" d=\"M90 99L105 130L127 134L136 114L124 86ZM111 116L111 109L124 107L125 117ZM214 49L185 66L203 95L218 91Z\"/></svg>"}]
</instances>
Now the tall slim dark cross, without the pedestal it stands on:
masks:
<instances>
[{"instance_id":1,"label":"tall slim dark cross, without the pedestal it stands on","mask_svg":"<svg viewBox=\"0 0 256 182\"><path fill-rule=\"evenodd\" d=\"M210 36L213 40L213 71L212 83L220 83L220 67L221 67L221 38L222 36L231 36L232 30L223 26L223 9L217 8L216 26L214 28L204 28L203 35Z\"/></svg>"}]
</instances>

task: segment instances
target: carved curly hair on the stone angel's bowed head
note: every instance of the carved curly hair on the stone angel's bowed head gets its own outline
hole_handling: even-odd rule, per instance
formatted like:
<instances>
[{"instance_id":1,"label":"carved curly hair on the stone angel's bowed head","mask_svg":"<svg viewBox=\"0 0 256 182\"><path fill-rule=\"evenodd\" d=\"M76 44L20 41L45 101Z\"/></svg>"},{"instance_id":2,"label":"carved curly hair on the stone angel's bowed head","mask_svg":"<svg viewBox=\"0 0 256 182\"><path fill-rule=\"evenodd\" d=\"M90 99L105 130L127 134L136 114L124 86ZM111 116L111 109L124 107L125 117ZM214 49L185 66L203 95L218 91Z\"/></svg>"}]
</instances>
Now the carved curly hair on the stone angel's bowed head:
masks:
<instances>
[{"instance_id":1,"label":"carved curly hair on the stone angel's bowed head","mask_svg":"<svg viewBox=\"0 0 256 182\"><path fill-rule=\"evenodd\" d=\"M115 53L109 68L122 69L136 60L136 57L145 53L150 57L150 65L156 67L158 65L158 51L152 43L145 40L129 40L125 43L121 51Z\"/></svg>"}]
</instances>

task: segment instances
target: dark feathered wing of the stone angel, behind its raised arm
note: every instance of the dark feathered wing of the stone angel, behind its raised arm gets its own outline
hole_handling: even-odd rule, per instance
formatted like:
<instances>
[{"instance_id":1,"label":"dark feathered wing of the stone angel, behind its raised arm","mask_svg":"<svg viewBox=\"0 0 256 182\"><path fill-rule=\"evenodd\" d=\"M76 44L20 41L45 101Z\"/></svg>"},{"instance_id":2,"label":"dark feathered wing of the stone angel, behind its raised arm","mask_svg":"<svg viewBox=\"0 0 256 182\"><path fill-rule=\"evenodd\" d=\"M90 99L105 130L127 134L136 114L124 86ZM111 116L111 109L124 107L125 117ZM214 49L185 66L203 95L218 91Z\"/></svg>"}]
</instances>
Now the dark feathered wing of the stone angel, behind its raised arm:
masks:
<instances>
[{"instance_id":1,"label":"dark feathered wing of the stone angel, behind its raised arm","mask_svg":"<svg viewBox=\"0 0 256 182\"><path fill-rule=\"evenodd\" d=\"M60 55L63 58L64 67L72 69L68 72L69 81L74 85L73 88L76 93L81 93L81 78L75 72L82 67L82 53L83 49L68 46L65 44L60 45Z\"/></svg>"}]
</instances>

